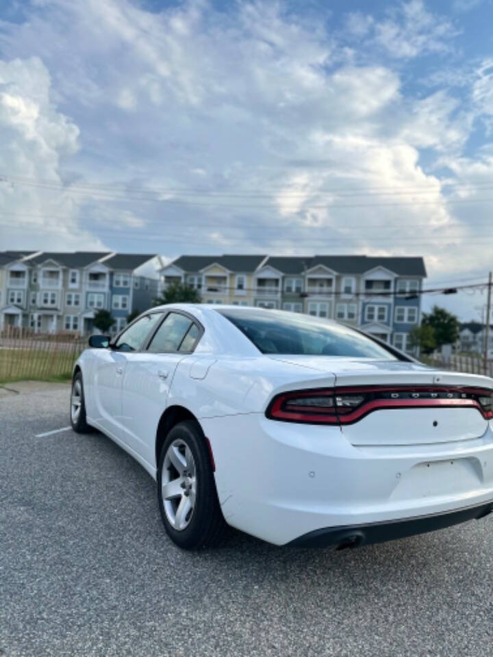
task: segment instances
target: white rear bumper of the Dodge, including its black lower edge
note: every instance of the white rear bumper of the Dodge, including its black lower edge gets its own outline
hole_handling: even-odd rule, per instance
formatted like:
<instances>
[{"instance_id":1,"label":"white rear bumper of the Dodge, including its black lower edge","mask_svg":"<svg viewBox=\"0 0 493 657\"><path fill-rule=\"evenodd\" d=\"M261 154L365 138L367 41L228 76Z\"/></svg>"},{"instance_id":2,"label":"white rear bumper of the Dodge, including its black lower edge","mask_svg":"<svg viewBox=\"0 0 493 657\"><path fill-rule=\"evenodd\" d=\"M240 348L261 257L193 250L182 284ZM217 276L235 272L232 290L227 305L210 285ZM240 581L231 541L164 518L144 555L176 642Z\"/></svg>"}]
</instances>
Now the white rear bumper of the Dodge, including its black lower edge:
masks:
<instances>
[{"instance_id":1,"label":"white rear bumper of the Dodge, including its black lower edge","mask_svg":"<svg viewBox=\"0 0 493 657\"><path fill-rule=\"evenodd\" d=\"M276 545L340 545L348 532L375 543L479 517L493 504L491 423L479 437L398 446L355 446L338 426L260 413L201 423L226 521Z\"/></svg>"}]
</instances>

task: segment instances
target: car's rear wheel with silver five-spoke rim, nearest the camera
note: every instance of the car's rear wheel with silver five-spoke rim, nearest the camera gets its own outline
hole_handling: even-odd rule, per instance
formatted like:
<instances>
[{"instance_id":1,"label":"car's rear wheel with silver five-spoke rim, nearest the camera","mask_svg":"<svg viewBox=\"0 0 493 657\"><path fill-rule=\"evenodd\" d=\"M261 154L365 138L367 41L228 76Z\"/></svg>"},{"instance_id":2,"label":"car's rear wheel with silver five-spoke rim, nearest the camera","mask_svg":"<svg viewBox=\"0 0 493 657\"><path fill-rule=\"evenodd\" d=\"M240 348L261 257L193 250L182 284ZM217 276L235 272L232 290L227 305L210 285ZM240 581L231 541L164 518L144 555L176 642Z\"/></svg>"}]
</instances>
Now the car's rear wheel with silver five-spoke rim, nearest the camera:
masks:
<instances>
[{"instance_id":1,"label":"car's rear wheel with silver five-spoke rim, nearest the camera","mask_svg":"<svg viewBox=\"0 0 493 657\"><path fill-rule=\"evenodd\" d=\"M210 454L200 426L186 420L163 443L157 498L164 528L184 550L218 545L227 525L220 509Z\"/></svg>"}]
</instances>

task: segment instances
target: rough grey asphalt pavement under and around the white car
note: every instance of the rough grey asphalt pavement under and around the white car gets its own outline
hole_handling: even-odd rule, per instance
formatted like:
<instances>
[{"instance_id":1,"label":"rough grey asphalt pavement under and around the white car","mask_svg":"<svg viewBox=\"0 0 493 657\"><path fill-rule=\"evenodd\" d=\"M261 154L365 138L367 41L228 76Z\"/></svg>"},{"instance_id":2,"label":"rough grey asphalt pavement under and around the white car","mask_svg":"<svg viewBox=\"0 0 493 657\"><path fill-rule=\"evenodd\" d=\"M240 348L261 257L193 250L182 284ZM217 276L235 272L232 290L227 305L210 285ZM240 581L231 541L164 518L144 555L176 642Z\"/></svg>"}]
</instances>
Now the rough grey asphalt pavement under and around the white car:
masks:
<instances>
[{"instance_id":1,"label":"rough grey asphalt pavement under and around the white car","mask_svg":"<svg viewBox=\"0 0 493 657\"><path fill-rule=\"evenodd\" d=\"M68 387L0 395L0 655L490 656L493 519L357 550L181 552Z\"/></svg>"}]
</instances>

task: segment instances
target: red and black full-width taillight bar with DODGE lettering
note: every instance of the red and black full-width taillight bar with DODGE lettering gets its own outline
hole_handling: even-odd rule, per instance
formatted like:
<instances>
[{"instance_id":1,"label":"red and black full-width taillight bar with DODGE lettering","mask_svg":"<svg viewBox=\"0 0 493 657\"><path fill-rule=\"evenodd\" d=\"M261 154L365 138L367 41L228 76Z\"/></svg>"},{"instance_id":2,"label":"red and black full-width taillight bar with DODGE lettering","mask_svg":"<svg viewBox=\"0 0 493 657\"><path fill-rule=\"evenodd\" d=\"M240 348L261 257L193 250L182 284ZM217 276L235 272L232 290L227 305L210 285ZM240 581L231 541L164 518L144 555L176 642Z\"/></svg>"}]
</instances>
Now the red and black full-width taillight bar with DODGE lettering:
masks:
<instances>
[{"instance_id":1,"label":"red and black full-width taillight bar with DODGE lettering","mask_svg":"<svg viewBox=\"0 0 493 657\"><path fill-rule=\"evenodd\" d=\"M270 402L266 416L283 422L352 424L379 409L468 407L493 419L493 394L481 388L376 387L286 392Z\"/></svg>"}]
</instances>

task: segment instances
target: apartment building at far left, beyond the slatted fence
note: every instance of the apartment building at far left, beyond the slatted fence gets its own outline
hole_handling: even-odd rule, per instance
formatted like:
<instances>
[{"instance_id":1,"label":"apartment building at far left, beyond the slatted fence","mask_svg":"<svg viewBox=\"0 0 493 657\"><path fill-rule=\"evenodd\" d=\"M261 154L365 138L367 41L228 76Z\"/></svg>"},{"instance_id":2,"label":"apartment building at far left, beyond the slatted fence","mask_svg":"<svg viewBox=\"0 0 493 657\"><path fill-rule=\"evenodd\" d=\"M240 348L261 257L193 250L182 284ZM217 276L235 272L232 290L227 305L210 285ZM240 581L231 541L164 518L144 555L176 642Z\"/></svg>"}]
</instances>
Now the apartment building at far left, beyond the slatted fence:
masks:
<instances>
[{"instance_id":1,"label":"apartment building at far left, beyond the slatted fence","mask_svg":"<svg viewBox=\"0 0 493 657\"><path fill-rule=\"evenodd\" d=\"M158 277L139 273L155 255L76 251L0 253L0 329L30 326L37 333L94 329L94 313L112 313L116 332L127 316L157 296Z\"/></svg>"}]
</instances>

